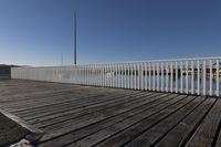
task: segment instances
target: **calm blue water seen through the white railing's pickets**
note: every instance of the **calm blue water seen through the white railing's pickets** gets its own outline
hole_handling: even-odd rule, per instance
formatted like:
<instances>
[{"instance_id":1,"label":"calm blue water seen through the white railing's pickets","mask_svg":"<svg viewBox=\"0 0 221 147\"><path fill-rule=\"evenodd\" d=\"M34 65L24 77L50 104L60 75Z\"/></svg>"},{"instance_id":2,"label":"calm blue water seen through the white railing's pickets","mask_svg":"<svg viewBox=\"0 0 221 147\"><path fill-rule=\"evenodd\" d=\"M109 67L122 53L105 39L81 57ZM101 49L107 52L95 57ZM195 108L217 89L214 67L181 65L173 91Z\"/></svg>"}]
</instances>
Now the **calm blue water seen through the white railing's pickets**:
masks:
<instances>
[{"instance_id":1,"label":"calm blue water seen through the white railing's pickets","mask_svg":"<svg viewBox=\"0 0 221 147\"><path fill-rule=\"evenodd\" d=\"M187 77L188 76L188 82ZM181 77L178 77L177 86L180 92L180 88L182 87L182 92L186 92L186 88L188 87L188 92L191 93L192 90L192 83L191 83L191 75L183 75L182 76L182 85L181 85ZM155 75L155 77L151 76L137 76L137 75L114 75L114 74L106 74L106 75L97 75L97 74L91 74L90 76L86 76L85 74L81 74L77 77L74 76L72 73L63 73L61 75L62 81L65 81L67 83L76 83L76 84L87 84L87 85L101 85L101 86L113 86L113 87L124 87L124 88L141 88L141 85L144 88L147 90L159 90L161 91L161 87L164 87L164 91L166 91L166 75L161 76ZM158 82L159 81L159 82ZM150 87L149 87L150 83ZM155 85L155 86L154 86ZM176 91L176 78L171 80L170 76L168 76L168 91L170 92L172 87L172 91ZM219 82L219 87L221 87L221 81ZM193 90L194 93L197 93L198 90L198 78L193 78ZM200 92L202 93L203 90L203 82L200 78ZM206 90L207 93L210 91L210 80L206 78ZM220 88L219 88L220 90ZM213 94L217 92L217 81L212 81L212 91Z\"/></svg>"}]
</instances>

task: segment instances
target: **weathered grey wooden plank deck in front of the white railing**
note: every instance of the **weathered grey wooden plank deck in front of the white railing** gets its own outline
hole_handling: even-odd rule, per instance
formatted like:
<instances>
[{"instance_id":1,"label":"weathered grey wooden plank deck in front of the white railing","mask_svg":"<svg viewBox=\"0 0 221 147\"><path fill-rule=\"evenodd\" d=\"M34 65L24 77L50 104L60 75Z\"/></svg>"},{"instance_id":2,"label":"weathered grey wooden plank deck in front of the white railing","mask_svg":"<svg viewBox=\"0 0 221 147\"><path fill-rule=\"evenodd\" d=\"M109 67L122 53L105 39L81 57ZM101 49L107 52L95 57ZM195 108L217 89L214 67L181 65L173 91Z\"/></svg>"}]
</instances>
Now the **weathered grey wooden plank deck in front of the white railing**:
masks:
<instances>
[{"instance_id":1,"label":"weathered grey wooden plank deck in front of the white railing","mask_svg":"<svg viewBox=\"0 0 221 147\"><path fill-rule=\"evenodd\" d=\"M221 147L221 98L11 80L0 108L43 132L39 147Z\"/></svg>"}]
</instances>

